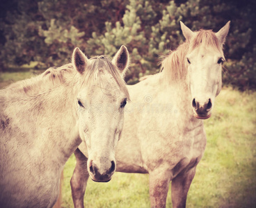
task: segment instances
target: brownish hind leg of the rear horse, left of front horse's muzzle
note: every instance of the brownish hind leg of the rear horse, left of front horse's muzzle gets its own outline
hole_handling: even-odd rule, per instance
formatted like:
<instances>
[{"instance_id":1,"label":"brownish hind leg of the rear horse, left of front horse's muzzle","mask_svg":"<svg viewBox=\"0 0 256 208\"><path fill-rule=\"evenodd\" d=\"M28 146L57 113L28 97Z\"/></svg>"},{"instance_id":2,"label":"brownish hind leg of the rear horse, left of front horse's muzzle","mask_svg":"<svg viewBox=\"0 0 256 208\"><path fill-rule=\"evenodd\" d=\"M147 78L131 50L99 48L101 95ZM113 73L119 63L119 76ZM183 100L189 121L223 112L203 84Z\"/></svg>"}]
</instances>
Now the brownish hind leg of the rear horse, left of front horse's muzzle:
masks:
<instances>
[{"instance_id":1,"label":"brownish hind leg of the rear horse, left of front horse's muzzle","mask_svg":"<svg viewBox=\"0 0 256 208\"><path fill-rule=\"evenodd\" d=\"M74 151L74 155L77 159L77 164L74 168L74 173L70 180L72 199L74 207L83 208L83 196L86 192L86 184L88 181L89 173L87 171L87 157L81 153L79 148Z\"/></svg>"}]
</instances>

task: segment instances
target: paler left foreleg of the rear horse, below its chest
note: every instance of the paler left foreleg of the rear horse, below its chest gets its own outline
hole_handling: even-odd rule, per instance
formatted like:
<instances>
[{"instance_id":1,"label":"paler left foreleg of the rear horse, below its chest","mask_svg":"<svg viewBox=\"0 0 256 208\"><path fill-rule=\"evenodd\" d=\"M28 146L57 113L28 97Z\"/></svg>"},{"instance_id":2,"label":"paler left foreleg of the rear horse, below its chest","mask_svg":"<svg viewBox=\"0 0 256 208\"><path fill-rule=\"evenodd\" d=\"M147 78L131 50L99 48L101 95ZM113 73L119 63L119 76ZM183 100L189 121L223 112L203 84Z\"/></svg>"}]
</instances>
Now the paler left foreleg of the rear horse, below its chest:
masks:
<instances>
[{"instance_id":1,"label":"paler left foreleg of the rear horse, below its chest","mask_svg":"<svg viewBox=\"0 0 256 208\"><path fill-rule=\"evenodd\" d=\"M166 207L166 198L170 184L170 172L153 171L150 173L150 204L154 208Z\"/></svg>"}]
</instances>

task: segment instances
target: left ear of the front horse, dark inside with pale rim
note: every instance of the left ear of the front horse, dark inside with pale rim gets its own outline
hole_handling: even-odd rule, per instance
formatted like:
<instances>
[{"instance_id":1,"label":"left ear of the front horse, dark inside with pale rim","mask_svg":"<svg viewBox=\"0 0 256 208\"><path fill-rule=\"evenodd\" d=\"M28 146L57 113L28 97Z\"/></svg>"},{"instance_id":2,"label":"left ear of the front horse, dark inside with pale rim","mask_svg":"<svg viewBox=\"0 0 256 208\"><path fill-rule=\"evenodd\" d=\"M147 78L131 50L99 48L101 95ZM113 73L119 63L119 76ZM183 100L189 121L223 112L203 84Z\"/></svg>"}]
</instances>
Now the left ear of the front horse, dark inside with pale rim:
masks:
<instances>
[{"instance_id":1,"label":"left ear of the front horse, dark inside with pale rim","mask_svg":"<svg viewBox=\"0 0 256 208\"><path fill-rule=\"evenodd\" d=\"M72 63L79 73L83 73L86 70L88 59L79 48L75 48L73 51Z\"/></svg>"}]
</instances>

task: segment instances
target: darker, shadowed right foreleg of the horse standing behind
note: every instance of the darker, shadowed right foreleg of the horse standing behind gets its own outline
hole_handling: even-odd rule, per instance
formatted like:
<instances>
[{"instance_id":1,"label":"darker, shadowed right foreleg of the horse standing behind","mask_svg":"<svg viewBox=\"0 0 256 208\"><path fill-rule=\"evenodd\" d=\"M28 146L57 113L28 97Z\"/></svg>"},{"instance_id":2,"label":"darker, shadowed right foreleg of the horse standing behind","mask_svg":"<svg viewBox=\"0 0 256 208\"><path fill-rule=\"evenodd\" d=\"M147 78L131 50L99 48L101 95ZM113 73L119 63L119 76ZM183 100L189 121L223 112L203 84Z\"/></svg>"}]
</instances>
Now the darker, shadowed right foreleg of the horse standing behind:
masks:
<instances>
[{"instance_id":1,"label":"darker, shadowed right foreleg of the horse standing behind","mask_svg":"<svg viewBox=\"0 0 256 208\"><path fill-rule=\"evenodd\" d=\"M179 175L173 178L171 185L173 208L186 207L186 196L195 176L195 168L193 167L189 171L179 173Z\"/></svg>"}]
</instances>

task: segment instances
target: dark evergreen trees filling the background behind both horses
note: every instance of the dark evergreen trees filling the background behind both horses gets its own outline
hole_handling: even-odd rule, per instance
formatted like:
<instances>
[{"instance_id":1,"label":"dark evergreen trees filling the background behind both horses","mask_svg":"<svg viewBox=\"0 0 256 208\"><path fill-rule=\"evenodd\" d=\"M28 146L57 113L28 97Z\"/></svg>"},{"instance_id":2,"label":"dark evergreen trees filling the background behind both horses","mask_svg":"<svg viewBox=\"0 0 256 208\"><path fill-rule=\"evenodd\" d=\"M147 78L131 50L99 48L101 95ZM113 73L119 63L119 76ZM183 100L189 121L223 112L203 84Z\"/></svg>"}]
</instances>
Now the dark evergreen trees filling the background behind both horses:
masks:
<instances>
[{"instance_id":1,"label":"dark evergreen trees filling the background behind both horses","mask_svg":"<svg viewBox=\"0 0 256 208\"><path fill-rule=\"evenodd\" d=\"M113 56L125 44L131 53L128 83L159 71L159 55L174 50L192 30L218 31L231 20L225 44L223 81L240 89L256 88L255 1L232 0L9 0L0 21L0 66L35 61L38 67L70 62L75 46L86 55Z\"/></svg>"}]
</instances>

